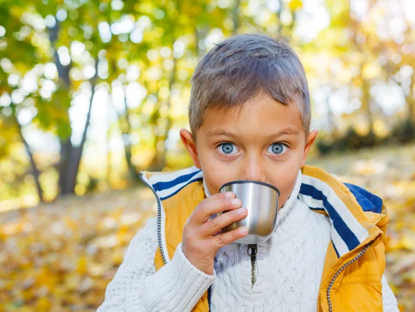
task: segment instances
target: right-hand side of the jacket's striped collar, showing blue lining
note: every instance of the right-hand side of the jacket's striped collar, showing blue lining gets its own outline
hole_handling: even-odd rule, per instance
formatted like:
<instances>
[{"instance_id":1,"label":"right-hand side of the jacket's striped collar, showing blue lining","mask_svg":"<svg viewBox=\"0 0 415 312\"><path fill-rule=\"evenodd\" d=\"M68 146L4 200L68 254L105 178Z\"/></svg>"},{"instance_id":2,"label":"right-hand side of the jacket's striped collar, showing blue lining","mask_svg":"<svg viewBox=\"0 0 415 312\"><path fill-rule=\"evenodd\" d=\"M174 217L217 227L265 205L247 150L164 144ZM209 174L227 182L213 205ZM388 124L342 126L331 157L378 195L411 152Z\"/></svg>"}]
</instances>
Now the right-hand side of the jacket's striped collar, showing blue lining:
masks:
<instances>
[{"instance_id":1,"label":"right-hand side of the jacket's striped collar, showing blue lining","mask_svg":"<svg viewBox=\"0 0 415 312\"><path fill-rule=\"evenodd\" d=\"M382 199L356 185L342 183L322 169L304 166L299 200L329 216L338 257L362 244L376 230L365 212L381 213Z\"/></svg>"}]
</instances>

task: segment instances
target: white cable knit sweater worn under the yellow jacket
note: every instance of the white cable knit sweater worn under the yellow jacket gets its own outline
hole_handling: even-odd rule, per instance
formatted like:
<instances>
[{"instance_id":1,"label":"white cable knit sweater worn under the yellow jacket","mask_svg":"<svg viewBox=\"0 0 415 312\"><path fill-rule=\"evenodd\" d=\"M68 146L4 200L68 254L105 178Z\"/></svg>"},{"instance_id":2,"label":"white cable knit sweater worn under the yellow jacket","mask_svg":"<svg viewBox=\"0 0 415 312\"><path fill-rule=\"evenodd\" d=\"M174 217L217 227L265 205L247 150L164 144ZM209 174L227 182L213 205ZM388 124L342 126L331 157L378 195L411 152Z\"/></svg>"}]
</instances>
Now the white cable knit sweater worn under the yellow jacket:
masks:
<instances>
[{"instance_id":1,"label":"white cable knit sweater worn under the yellow jacket","mask_svg":"<svg viewBox=\"0 0 415 312\"><path fill-rule=\"evenodd\" d=\"M297 199L301 171L291 196L277 216L277 228L257 246L257 280L251 284L247 245L230 244L214 259L214 273L195 268L181 244L169 263L156 272L156 219L133 237L116 276L107 286L104 311L191 311L212 285L211 311L316 311L317 293L330 221ZM208 187L203 184L206 196ZM394 293L382 277L384 311L397 312Z\"/></svg>"}]
</instances>

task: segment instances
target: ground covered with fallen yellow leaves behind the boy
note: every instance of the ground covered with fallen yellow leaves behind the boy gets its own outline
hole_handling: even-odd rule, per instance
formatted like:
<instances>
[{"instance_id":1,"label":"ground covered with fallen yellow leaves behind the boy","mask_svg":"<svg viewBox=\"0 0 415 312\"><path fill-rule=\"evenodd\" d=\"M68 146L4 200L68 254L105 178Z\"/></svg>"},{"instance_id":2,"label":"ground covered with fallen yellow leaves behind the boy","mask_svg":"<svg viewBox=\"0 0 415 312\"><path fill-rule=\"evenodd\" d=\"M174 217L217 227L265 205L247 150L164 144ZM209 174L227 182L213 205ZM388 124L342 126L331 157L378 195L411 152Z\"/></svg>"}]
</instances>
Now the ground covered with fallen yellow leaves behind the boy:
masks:
<instances>
[{"instance_id":1,"label":"ground covered with fallen yellow leaves behind the boy","mask_svg":"<svg viewBox=\"0 0 415 312\"><path fill-rule=\"evenodd\" d=\"M415 145L311 160L389 208L387 277L415 311ZM147 189L59 199L0 214L0 311L95 311L133 235L154 216Z\"/></svg>"}]
</instances>

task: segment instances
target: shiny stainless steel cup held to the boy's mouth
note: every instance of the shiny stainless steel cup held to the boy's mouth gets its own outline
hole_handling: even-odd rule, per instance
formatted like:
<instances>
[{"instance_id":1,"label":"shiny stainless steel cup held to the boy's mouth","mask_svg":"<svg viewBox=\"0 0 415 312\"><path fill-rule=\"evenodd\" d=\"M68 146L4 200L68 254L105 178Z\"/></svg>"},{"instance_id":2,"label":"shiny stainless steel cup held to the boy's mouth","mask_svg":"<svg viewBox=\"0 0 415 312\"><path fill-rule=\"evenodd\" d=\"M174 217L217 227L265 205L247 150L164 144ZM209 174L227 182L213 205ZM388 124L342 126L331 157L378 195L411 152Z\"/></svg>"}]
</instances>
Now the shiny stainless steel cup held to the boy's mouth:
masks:
<instances>
[{"instance_id":1,"label":"shiny stainless steel cup held to the boy's mouth","mask_svg":"<svg viewBox=\"0 0 415 312\"><path fill-rule=\"evenodd\" d=\"M231 223L222 229L228 232L246 226L248 235L236 242L240 244L259 244L269 239L277 224L279 190L268 183L258 181L232 181L225 183L219 192L232 191L241 199L241 207L248 208L245 219ZM221 212L222 214L225 212Z\"/></svg>"}]
</instances>

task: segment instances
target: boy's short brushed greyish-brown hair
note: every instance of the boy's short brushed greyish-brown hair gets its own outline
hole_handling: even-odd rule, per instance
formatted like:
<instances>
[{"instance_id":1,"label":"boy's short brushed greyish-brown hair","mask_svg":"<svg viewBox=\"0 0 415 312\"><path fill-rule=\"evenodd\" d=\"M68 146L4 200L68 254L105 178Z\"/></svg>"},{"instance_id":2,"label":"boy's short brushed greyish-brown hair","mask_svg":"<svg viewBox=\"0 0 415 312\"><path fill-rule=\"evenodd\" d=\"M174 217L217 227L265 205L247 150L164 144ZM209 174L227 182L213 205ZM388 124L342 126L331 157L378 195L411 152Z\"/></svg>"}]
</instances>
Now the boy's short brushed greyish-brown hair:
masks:
<instances>
[{"instance_id":1,"label":"boy's short brushed greyish-brown hair","mask_svg":"<svg viewBox=\"0 0 415 312\"><path fill-rule=\"evenodd\" d=\"M203 56L191 82L189 119L194 140L206 109L242 108L260 91L284 105L297 102L308 138L311 104L306 74L284 37L253 33L225 39Z\"/></svg>"}]
</instances>

